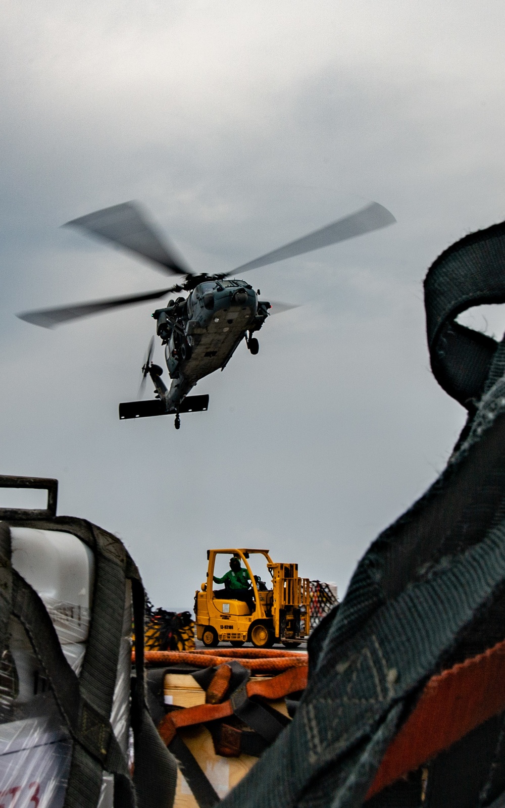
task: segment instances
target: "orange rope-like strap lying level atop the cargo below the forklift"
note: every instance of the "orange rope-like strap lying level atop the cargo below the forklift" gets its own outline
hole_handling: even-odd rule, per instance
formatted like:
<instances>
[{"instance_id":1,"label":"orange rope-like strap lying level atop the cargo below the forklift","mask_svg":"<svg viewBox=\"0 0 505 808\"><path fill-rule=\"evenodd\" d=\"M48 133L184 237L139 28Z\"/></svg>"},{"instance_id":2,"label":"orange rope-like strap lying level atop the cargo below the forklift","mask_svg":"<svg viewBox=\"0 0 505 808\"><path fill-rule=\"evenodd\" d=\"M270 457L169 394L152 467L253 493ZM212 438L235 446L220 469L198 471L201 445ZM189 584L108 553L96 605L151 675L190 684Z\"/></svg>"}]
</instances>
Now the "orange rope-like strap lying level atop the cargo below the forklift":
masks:
<instances>
[{"instance_id":1,"label":"orange rope-like strap lying level atop the cargo below the forklift","mask_svg":"<svg viewBox=\"0 0 505 808\"><path fill-rule=\"evenodd\" d=\"M231 662L232 659L238 659L238 662L243 666L246 667L249 671L255 671L257 673L270 673L271 671L287 671L290 667L305 667L307 665L307 654L293 654L292 652L284 652L278 651L278 654L281 654L279 657L265 657L259 656L259 652L253 649L246 649L252 651L253 653L250 656L253 656L256 659L250 659L249 655L247 658L242 657L242 653L233 653L226 650L225 655L217 654L213 652L213 654L206 654L204 650L200 651L145 651L145 663L146 664L159 664L162 665L175 665L179 663L188 663L190 665L194 665L195 667L211 667L212 665L221 665L225 662ZM133 660L135 657L133 657Z\"/></svg>"}]
</instances>

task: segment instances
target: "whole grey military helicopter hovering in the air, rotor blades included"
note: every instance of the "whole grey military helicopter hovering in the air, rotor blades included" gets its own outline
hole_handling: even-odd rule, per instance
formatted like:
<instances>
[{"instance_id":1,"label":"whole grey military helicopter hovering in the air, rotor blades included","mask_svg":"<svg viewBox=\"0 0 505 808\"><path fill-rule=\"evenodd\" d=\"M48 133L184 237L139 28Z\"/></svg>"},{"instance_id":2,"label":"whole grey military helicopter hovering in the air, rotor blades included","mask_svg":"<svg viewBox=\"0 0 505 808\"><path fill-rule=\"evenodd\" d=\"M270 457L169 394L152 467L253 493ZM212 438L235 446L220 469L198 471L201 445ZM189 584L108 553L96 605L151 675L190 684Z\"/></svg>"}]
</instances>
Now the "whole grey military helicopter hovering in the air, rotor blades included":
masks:
<instances>
[{"instance_id":1,"label":"whole grey military helicopter hovering in the air, rotor blades included","mask_svg":"<svg viewBox=\"0 0 505 808\"><path fill-rule=\"evenodd\" d=\"M181 282L155 292L109 297L55 309L37 309L17 316L36 326L53 328L62 322L108 309L156 300L172 292L188 292L187 297L170 299L164 308L156 309L152 315L157 323L156 333L165 346L166 366L172 380L170 389L162 381L162 368L152 361L153 337L142 366L141 389L149 376L154 384L155 398L120 404L120 419L172 414L175 415L175 428L179 429L181 413L208 409L208 395L187 395L197 381L219 368L224 369L242 339L246 340L250 353L257 354L259 343L253 336L255 332L263 326L269 314L292 308L282 303L259 300L259 289L256 292L245 280L228 279L256 267L370 233L395 221L389 210L372 202L350 216L240 267L208 275L206 272L197 274L191 271L175 254L175 250L166 246L138 203L124 202L69 221L67 225L85 229L90 234L133 251L154 262L158 270L179 276Z\"/></svg>"}]
</instances>

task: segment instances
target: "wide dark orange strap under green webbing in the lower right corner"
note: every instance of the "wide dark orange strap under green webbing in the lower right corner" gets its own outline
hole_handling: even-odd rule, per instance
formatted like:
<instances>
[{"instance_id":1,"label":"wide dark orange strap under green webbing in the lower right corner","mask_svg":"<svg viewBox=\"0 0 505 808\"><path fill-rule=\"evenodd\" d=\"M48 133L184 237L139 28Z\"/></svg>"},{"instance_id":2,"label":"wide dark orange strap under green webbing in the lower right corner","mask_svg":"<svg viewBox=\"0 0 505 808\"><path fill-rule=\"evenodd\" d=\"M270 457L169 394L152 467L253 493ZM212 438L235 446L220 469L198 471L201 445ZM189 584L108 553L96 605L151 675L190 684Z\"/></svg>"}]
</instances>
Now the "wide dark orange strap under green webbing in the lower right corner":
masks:
<instances>
[{"instance_id":1,"label":"wide dark orange strap under green webbing in the lower right corner","mask_svg":"<svg viewBox=\"0 0 505 808\"><path fill-rule=\"evenodd\" d=\"M505 709L505 640L432 676L382 760L367 799Z\"/></svg>"}]
</instances>

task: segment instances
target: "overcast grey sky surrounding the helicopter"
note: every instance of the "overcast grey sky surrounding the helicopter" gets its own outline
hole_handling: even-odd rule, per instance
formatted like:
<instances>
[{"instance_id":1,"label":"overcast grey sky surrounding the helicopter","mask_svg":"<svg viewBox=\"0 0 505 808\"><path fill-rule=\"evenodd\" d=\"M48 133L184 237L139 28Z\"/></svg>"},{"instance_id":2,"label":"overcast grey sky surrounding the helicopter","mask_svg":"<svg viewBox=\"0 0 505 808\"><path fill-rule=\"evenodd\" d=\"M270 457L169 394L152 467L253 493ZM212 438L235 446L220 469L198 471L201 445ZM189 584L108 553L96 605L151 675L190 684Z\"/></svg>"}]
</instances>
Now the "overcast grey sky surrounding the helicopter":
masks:
<instances>
[{"instance_id":1,"label":"overcast grey sky surrounding the helicopter","mask_svg":"<svg viewBox=\"0 0 505 808\"><path fill-rule=\"evenodd\" d=\"M429 370L422 281L448 244L504 218L505 6L1 8L2 473L57 477L59 512L116 532L157 605L191 607L219 546L267 547L343 594L465 419ZM370 200L398 224L247 273L263 298L306 305L267 321L258 356L242 345L200 381L209 410L176 432L117 416L137 397L152 304L53 331L15 318L165 283L58 229L130 199L196 271Z\"/></svg>"}]
</instances>

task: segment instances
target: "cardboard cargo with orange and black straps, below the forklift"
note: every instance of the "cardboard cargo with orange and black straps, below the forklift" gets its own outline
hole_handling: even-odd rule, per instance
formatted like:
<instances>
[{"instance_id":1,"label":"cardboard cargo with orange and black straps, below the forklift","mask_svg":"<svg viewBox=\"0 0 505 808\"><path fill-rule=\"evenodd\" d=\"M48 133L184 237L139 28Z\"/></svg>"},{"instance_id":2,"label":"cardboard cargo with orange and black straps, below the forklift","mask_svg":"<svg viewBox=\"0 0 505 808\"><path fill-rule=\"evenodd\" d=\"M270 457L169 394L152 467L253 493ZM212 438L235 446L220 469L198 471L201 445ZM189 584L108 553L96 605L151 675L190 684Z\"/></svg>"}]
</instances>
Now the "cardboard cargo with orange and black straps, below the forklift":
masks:
<instances>
[{"instance_id":1,"label":"cardboard cargo with orange and black straps, below the forklift","mask_svg":"<svg viewBox=\"0 0 505 808\"><path fill-rule=\"evenodd\" d=\"M256 649L147 652L149 707L178 761L175 808L213 805L291 722L307 654Z\"/></svg>"}]
</instances>

